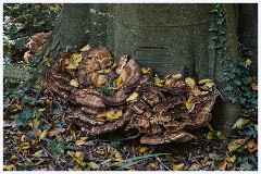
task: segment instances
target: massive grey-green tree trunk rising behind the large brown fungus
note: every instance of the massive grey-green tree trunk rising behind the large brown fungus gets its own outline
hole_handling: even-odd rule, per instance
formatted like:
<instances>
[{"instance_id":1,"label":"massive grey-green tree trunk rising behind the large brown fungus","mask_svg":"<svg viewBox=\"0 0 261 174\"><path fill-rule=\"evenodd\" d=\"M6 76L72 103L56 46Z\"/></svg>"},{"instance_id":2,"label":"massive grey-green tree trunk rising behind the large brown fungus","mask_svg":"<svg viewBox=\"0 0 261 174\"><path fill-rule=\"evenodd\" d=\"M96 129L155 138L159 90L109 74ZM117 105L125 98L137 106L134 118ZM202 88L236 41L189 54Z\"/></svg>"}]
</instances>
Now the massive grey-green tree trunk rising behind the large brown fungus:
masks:
<instances>
[{"instance_id":1,"label":"massive grey-green tree trunk rising behind the large brown fungus","mask_svg":"<svg viewBox=\"0 0 261 174\"><path fill-rule=\"evenodd\" d=\"M238 59L237 14L233 4L225 5L228 54ZM239 8L240 9L240 8ZM45 54L55 60L64 50L103 45L117 59L129 54L160 76L179 73L186 65L190 76L214 78L223 94L226 85L215 51L212 4L64 4L60 22ZM240 107L223 94L213 113L213 122L226 136L238 119Z\"/></svg>"}]
</instances>

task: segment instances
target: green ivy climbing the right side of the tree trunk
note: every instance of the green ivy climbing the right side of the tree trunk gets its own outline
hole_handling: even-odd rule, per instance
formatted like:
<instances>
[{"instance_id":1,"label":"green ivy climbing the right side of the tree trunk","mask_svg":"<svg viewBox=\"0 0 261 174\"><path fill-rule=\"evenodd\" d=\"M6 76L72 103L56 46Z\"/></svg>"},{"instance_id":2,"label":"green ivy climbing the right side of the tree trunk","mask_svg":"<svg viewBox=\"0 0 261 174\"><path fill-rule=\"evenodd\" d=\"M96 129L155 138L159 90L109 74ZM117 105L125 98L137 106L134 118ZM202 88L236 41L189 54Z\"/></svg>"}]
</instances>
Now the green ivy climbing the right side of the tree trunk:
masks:
<instances>
[{"instance_id":1,"label":"green ivy climbing the right side of the tree trunk","mask_svg":"<svg viewBox=\"0 0 261 174\"><path fill-rule=\"evenodd\" d=\"M240 119L234 124L233 128L236 127L239 136L253 138L257 142L258 89L249 69L251 66L252 52L249 48L239 44L239 60L236 63L233 62L232 58L226 53L229 46L224 25L226 23L224 10L221 4L214 4L211 12L214 14L214 26L209 28L209 32L214 33L212 38L214 46L211 49L215 50L217 63L220 63L224 73L227 84L224 91L229 94L227 99L231 102L239 102L241 107ZM251 150L249 151L250 154L244 151L247 146L243 147L243 151L237 150L241 156L246 156L237 159L240 169L257 169L256 157L251 154Z\"/></svg>"}]
</instances>

